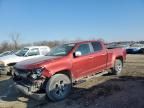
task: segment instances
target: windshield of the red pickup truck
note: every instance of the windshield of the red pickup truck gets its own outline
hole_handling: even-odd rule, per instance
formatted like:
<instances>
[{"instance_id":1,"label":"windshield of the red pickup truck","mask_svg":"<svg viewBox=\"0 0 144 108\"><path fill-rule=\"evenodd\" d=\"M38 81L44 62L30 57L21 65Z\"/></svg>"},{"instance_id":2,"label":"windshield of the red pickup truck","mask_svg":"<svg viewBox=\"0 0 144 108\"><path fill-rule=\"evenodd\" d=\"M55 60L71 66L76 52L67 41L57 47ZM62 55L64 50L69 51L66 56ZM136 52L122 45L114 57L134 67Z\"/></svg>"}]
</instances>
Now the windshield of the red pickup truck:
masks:
<instances>
[{"instance_id":1,"label":"windshield of the red pickup truck","mask_svg":"<svg viewBox=\"0 0 144 108\"><path fill-rule=\"evenodd\" d=\"M47 56L66 56L75 46L75 44L64 44L52 48Z\"/></svg>"}]
</instances>

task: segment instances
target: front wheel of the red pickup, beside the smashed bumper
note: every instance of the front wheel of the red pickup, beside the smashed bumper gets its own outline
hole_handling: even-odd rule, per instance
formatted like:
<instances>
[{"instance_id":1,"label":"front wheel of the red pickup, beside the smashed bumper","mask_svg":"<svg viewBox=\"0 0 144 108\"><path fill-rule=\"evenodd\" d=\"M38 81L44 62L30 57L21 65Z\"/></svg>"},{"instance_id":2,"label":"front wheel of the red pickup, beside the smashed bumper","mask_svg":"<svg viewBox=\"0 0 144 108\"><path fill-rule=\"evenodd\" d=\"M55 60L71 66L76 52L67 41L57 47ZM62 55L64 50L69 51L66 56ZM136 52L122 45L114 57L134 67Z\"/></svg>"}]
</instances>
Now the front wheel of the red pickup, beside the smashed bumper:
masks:
<instances>
[{"instance_id":1,"label":"front wheel of the red pickup, beside the smashed bumper","mask_svg":"<svg viewBox=\"0 0 144 108\"><path fill-rule=\"evenodd\" d=\"M69 95L71 89L71 79L65 74L56 74L47 82L46 94L50 100L60 101Z\"/></svg>"}]
</instances>

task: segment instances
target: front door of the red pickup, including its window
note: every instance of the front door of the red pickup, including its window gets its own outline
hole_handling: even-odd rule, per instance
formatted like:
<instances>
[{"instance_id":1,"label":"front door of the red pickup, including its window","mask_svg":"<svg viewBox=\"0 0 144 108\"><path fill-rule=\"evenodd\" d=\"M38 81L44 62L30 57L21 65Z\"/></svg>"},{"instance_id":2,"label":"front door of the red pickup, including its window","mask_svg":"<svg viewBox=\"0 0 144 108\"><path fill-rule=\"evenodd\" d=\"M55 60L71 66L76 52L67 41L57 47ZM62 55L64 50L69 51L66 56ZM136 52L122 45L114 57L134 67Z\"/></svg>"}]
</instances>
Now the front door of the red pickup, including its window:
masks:
<instances>
[{"instance_id":1,"label":"front door of the red pickup, including its window","mask_svg":"<svg viewBox=\"0 0 144 108\"><path fill-rule=\"evenodd\" d=\"M93 56L91 55L90 43L80 44L76 51L82 53L80 57L74 57L72 60L72 70L75 77L78 78L92 70Z\"/></svg>"}]
</instances>

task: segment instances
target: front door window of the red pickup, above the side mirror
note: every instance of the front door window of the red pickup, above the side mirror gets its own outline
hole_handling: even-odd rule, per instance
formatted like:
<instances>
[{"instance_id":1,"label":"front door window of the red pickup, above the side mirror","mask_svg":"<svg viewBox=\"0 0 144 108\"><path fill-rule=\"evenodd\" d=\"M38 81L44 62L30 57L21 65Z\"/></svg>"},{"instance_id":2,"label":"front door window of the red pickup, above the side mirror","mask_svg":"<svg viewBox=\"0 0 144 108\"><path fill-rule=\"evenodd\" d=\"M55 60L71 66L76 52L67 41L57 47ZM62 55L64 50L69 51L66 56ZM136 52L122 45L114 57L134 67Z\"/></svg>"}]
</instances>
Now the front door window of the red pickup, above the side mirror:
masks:
<instances>
[{"instance_id":1,"label":"front door window of the red pickup, above the side mirror","mask_svg":"<svg viewBox=\"0 0 144 108\"><path fill-rule=\"evenodd\" d=\"M82 55L91 53L89 44L81 44L76 51L80 51Z\"/></svg>"}]
</instances>

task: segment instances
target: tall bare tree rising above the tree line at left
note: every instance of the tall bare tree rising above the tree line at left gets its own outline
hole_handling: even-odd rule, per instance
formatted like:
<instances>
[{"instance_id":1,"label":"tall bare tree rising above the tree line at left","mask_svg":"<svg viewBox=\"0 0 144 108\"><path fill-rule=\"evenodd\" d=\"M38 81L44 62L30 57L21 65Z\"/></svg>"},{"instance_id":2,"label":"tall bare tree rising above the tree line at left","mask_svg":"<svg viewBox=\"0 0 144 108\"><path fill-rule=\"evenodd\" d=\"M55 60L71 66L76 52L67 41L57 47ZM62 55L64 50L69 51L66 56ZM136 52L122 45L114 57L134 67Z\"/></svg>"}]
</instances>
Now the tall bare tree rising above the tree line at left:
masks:
<instances>
[{"instance_id":1,"label":"tall bare tree rising above the tree line at left","mask_svg":"<svg viewBox=\"0 0 144 108\"><path fill-rule=\"evenodd\" d=\"M12 43L14 45L14 49L18 49L19 48L19 38L20 38L20 34L19 33L13 33L10 35Z\"/></svg>"}]
</instances>

